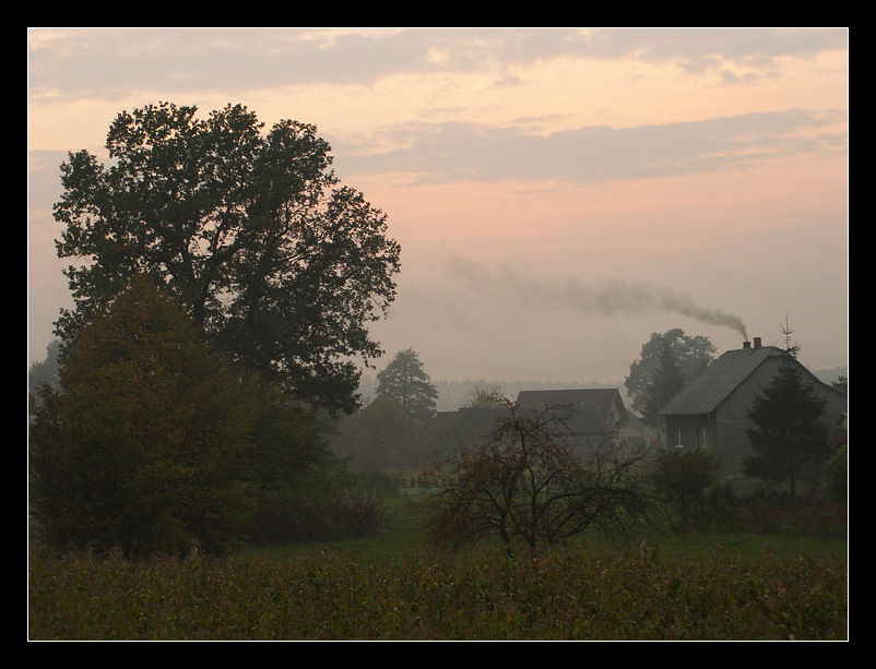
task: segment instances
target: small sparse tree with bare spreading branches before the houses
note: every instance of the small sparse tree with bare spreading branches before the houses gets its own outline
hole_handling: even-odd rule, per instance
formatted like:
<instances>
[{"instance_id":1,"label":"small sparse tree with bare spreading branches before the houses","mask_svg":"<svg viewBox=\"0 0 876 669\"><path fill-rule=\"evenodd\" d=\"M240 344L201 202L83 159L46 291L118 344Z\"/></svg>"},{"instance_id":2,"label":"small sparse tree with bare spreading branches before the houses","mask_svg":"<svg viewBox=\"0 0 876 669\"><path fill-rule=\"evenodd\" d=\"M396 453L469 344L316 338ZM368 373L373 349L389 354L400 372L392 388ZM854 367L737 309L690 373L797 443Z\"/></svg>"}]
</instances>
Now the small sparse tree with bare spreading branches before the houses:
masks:
<instances>
[{"instance_id":1,"label":"small sparse tree with bare spreading branches before the houses","mask_svg":"<svg viewBox=\"0 0 876 669\"><path fill-rule=\"evenodd\" d=\"M429 471L438 489L427 519L433 542L459 547L494 536L509 553L519 541L534 552L590 528L627 533L648 512L643 451L615 430L587 443L573 407L506 406L507 417L480 444Z\"/></svg>"}]
</instances>

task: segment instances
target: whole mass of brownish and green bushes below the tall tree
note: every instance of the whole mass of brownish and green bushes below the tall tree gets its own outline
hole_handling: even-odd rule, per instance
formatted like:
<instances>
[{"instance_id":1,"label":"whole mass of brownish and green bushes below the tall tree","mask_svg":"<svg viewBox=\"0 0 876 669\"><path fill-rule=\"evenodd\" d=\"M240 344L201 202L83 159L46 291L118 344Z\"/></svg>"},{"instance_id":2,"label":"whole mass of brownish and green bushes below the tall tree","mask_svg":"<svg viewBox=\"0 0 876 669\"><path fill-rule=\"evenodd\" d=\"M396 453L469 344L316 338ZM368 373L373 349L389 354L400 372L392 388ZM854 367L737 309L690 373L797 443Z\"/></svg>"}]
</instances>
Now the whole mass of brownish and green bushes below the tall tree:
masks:
<instances>
[{"instance_id":1,"label":"whole mass of brownish and green bushes below the tall tree","mask_svg":"<svg viewBox=\"0 0 876 669\"><path fill-rule=\"evenodd\" d=\"M150 279L82 330L61 382L32 403L29 434L31 511L50 546L217 552L265 526L288 539L336 525L317 513L340 483L312 416L212 350Z\"/></svg>"}]
</instances>

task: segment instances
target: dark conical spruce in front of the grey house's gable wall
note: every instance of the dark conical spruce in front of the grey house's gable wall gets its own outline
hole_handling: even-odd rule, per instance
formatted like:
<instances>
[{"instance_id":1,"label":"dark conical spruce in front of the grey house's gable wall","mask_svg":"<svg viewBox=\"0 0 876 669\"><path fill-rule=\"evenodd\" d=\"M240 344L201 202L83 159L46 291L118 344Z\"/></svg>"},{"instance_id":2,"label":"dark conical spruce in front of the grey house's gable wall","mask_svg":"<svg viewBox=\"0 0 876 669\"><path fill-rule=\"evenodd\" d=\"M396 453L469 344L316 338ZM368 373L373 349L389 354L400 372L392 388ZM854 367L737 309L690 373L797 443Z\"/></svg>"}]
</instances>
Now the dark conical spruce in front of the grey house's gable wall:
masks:
<instances>
[{"instance_id":1,"label":"dark conical spruce in front of the grey house's gable wall","mask_svg":"<svg viewBox=\"0 0 876 669\"><path fill-rule=\"evenodd\" d=\"M796 493L807 468L829 457L828 426L821 420L826 401L803 379L792 356L785 356L771 383L747 409L746 429L755 454L743 467L747 475L770 483L786 482Z\"/></svg>"}]
</instances>

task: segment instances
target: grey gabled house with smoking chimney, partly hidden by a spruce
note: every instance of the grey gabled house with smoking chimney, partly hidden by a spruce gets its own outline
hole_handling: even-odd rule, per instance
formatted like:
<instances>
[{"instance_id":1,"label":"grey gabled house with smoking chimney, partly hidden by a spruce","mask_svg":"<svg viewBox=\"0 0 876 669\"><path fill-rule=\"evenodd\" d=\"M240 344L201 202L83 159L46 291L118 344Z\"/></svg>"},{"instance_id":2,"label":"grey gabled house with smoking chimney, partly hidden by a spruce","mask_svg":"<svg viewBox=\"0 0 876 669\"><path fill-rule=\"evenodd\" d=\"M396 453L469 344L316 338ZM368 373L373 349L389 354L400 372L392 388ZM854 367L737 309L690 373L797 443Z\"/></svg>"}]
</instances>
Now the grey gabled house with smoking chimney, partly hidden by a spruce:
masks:
<instances>
[{"instance_id":1,"label":"grey gabled house with smoking chimney, partly hidden by a spruce","mask_svg":"<svg viewBox=\"0 0 876 669\"><path fill-rule=\"evenodd\" d=\"M661 409L665 446L683 452L708 449L719 459L721 478L742 478L743 459L753 453L746 435L746 428L751 427L747 409L786 358L780 348L761 346L759 337L754 345L746 342L743 348L720 356ZM848 395L820 381L796 359L794 363L825 397L825 419L842 421Z\"/></svg>"}]
</instances>

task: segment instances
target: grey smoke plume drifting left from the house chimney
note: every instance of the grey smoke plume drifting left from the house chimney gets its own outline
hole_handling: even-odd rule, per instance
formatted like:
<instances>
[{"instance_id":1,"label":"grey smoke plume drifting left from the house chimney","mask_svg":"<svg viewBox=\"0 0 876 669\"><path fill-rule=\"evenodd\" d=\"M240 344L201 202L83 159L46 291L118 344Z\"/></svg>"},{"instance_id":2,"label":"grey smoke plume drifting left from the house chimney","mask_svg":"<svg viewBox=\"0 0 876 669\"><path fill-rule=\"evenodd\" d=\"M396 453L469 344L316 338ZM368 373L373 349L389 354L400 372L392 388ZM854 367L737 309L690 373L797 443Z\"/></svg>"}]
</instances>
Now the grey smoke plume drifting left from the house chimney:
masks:
<instances>
[{"instance_id":1,"label":"grey smoke plume drifting left from the house chimney","mask_svg":"<svg viewBox=\"0 0 876 669\"><path fill-rule=\"evenodd\" d=\"M673 288L658 288L642 282L622 279L603 279L592 284L577 279L547 282L510 270L487 272L462 259L451 261L451 271L471 288L492 295L492 299L511 299L526 309L553 304L601 316L662 311L685 315L700 323L732 327L743 338L748 338L739 316L698 304L689 295ZM500 296L497 295L498 290L501 290Z\"/></svg>"}]
</instances>

